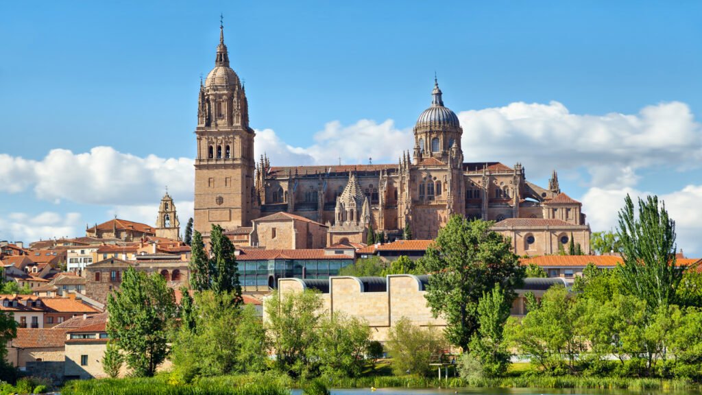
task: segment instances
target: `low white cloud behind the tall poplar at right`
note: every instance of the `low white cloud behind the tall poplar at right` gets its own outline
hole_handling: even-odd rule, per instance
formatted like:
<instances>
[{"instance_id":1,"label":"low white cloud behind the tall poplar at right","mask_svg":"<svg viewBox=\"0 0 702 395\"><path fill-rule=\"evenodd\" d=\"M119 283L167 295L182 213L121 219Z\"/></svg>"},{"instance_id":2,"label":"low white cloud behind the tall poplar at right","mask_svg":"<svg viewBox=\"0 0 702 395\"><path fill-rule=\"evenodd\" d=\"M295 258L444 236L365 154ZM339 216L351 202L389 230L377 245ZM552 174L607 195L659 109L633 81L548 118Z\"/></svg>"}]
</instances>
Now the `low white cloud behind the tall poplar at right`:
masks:
<instances>
[{"instance_id":1,"label":"low white cloud behind the tall poplar at right","mask_svg":"<svg viewBox=\"0 0 702 395\"><path fill-rule=\"evenodd\" d=\"M629 194L634 201L638 197L654 195L634 188L603 189L590 188L583 196L583 212L588 214L588 222L592 231L616 230L618 225L617 213L624 205L624 198ZM658 194L659 200L665 202L670 218L675 221L677 245L684 247L689 257L702 255L699 245L699 235L702 234L702 210L698 202L702 200L702 185L689 185L682 190Z\"/></svg>"}]
</instances>

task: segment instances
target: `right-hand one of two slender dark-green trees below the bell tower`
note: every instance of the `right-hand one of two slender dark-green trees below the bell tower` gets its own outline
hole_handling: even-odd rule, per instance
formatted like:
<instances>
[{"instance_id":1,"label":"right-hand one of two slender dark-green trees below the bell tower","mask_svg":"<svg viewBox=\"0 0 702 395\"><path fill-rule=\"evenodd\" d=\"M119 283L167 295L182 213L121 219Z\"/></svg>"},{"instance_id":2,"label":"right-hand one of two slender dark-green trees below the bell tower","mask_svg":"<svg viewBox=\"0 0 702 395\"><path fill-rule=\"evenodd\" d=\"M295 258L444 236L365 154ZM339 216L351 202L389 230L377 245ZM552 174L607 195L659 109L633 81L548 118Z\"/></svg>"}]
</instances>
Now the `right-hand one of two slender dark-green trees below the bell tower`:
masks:
<instances>
[{"instance_id":1,"label":"right-hand one of two slender dark-green trees below the bell tower","mask_svg":"<svg viewBox=\"0 0 702 395\"><path fill-rule=\"evenodd\" d=\"M239 284L239 269L237 257L234 255L234 245L224 234L219 225L212 225L210 231L210 280L211 290L216 294L232 294L231 302L241 305L241 285Z\"/></svg>"}]
</instances>

